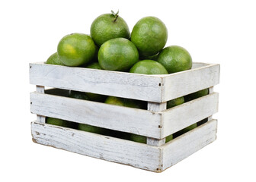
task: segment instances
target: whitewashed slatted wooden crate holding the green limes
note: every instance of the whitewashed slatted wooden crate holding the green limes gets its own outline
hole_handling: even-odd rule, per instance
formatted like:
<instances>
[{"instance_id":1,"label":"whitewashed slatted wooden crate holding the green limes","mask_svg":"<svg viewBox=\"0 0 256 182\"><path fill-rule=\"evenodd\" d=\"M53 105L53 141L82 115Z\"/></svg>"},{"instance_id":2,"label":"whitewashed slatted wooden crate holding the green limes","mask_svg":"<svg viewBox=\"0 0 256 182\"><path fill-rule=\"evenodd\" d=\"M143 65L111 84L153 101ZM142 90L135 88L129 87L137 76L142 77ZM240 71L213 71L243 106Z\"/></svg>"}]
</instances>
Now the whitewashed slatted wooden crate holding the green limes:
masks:
<instances>
[{"instance_id":1,"label":"whitewashed slatted wooden crate holding the green limes","mask_svg":"<svg viewBox=\"0 0 256 182\"><path fill-rule=\"evenodd\" d=\"M218 111L219 94L213 86L219 83L219 64L194 63L189 71L144 75L33 63L30 83L37 85L30 93L30 110L37 115L31 123L35 143L161 172L216 140L212 115ZM45 86L58 89L45 91ZM209 95L166 109L168 100L206 88ZM50 93L59 89L139 99L148 102L148 110ZM147 144L46 124L46 117L139 134ZM165 143L168 135L204 118L205 124Z\"/></svg>"}]
</instances>

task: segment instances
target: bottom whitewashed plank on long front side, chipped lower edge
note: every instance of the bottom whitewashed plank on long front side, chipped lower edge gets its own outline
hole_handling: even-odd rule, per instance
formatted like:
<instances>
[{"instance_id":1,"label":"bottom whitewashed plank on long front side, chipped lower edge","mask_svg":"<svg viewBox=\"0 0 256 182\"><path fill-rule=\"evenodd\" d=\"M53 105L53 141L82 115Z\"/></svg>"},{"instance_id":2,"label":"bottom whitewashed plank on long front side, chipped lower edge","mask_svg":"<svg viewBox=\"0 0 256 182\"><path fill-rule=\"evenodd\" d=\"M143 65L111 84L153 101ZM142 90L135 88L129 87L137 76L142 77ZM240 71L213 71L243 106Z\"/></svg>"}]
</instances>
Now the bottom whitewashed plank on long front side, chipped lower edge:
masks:
<instances>
[{"instance_id":1,"label":"bottom whitewashed plank on long front side, chipped lower edge","mask_svg":"<svg viewBox=\"0 0 256 182\"><path fill-rule=\"evenodd\" d=\"M149 171L161 171L158 147L50 124L31 123L35 143Z\"/></svg>"}]
</instances>

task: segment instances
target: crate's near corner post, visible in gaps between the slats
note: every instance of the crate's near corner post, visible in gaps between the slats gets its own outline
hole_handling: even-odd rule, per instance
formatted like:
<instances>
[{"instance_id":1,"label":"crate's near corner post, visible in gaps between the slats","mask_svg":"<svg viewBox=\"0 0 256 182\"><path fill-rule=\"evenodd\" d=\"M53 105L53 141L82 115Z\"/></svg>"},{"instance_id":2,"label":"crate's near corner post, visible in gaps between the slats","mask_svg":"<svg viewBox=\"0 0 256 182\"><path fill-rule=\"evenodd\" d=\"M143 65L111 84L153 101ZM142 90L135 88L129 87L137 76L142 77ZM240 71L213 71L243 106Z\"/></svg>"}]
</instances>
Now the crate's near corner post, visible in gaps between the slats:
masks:
<instances>
[{"instance_id":1,"label":"crate's near corner post, visible in gaps between the slats","mask_svg":"<svg viewBox=\"0 0 256 182\"><path fill-rule=\"evenodd\" d=\"M167 107L166 102L162 102L162 103L148 102L149 111L165 111L166 107ZM161 125L159 125L158 127L162 128ZM146 143L150 146L162 146L163 144L165 144L165 138L155 139L152 137L147 137Z\"/></svg>"}]
</instances>

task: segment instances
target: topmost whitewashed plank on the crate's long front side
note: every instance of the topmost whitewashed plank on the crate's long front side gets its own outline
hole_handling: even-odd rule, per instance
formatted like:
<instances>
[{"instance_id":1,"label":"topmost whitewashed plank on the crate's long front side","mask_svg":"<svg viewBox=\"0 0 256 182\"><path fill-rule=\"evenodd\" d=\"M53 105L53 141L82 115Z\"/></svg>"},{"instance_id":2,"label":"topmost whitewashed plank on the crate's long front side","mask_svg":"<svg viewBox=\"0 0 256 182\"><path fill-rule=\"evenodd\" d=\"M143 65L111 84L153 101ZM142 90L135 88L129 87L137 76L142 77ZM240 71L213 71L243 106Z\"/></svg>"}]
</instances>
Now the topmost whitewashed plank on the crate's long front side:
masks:
<instances>
[{"instance_id":1,"label":"topmost whitewashed plank on the crate's long front side","mask_svg":"<svg viewBox=\"0 0 256 182\"><path fill-rule=\"evenodd\" d=\"M34 63L30 64L30 83L151 102L162 100L162 75Z\"/></svg>"}]
</instances>

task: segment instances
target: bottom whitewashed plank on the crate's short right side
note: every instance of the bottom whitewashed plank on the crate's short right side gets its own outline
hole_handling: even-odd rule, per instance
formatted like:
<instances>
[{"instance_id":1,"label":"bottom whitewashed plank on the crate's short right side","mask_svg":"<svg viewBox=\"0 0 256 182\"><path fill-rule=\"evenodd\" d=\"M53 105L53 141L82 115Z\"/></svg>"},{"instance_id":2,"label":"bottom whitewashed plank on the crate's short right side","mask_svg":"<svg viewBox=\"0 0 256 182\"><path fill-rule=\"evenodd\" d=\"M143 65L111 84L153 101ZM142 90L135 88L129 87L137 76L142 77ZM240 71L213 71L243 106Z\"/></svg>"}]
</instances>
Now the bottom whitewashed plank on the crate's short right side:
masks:
<instances>
[{"instance_id":1,"label":"bottom whitewashed plank on the crate's short right side","mask_svg":"<svg viewBox=\"0 0 256 182\"><path fill-rule=\"evenodd\" d=\"M216 140L216 128L217 121L211 120L161 146L163 149L162 170L175 165Z\"/></svg>"}]
</instances>

